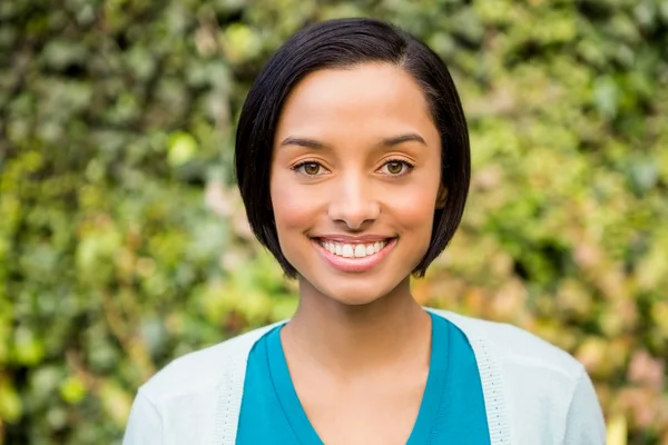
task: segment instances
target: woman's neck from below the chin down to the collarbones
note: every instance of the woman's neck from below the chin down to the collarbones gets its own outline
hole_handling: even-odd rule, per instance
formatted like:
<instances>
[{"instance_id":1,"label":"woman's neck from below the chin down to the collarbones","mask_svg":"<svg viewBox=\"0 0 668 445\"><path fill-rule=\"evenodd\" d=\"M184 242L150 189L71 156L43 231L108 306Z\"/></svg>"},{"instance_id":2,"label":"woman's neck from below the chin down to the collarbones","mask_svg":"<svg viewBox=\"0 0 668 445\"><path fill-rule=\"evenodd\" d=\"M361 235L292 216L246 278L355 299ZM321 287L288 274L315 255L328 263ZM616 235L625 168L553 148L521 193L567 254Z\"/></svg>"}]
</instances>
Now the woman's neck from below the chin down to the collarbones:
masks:
<instances>
[{"instance_id":1,"label":"woman's neck from below the chin down to the collarbones","mask_svg":"<svg viewBox=\"0 0 668 445\"><path fill-rule=\"evenodd\" d=\"M301 283L299 306L282 333L286 354L310 357L338 375L373 373L415 357L429 360L431 317L412 297L409 278L360 306L304 287Z\"/></svg>"}]
</instances>

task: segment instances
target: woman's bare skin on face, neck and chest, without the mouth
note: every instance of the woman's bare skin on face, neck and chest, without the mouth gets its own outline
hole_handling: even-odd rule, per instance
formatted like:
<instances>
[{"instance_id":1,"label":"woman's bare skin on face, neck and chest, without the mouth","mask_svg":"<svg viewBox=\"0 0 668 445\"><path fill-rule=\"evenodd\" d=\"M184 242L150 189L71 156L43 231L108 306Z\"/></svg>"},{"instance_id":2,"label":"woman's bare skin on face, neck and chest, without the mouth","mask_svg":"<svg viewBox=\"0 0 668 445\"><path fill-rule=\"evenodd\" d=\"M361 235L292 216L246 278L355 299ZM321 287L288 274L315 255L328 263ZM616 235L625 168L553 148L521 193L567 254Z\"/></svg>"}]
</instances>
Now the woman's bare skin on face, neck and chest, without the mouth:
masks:
<instances>
[{"instance_id":1,"label":"woman's bare skin on face, neck and chest, without the mouth","mask_svg":"<svg viewBox=\"0 0 668 445\"><path fill-rule=\"evenodd\" d=\"M426 100L401 67L316 71L282 111L271 194L281 248L299 281L282 344L301 404L327 445L404 444L413 429L431 317L411 295L410 274L429 248L443 195L440 156ZM337 267L318 244L367 235L395 245L363 271Z\"/></svg>"}]
</instances>

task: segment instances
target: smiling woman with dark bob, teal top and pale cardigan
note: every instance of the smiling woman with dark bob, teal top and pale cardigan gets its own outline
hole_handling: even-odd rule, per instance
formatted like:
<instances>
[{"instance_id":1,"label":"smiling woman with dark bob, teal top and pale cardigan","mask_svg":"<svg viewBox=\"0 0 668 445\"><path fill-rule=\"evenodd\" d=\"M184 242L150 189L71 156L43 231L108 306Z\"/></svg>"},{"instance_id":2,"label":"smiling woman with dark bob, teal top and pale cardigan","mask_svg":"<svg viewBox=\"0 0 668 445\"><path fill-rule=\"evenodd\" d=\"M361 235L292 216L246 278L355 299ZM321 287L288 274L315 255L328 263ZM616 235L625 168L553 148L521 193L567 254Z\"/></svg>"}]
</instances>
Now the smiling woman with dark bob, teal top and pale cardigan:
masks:
<instances>
[{"instance_id":1,"label":"smiling woman with dark bob, teal top and pale cardigan","mask_svg":"<svg viewBox=\"0 0 668 445\"><path fill-rule=\"evenodd\" d=\"M370 19L307 28L250 89L236 139L250 226L299 284L294 317L177 359L126 444L602 444L583 367L518 328L422 308L469 189L438 56Z\"/></svg>"}]
</instances>

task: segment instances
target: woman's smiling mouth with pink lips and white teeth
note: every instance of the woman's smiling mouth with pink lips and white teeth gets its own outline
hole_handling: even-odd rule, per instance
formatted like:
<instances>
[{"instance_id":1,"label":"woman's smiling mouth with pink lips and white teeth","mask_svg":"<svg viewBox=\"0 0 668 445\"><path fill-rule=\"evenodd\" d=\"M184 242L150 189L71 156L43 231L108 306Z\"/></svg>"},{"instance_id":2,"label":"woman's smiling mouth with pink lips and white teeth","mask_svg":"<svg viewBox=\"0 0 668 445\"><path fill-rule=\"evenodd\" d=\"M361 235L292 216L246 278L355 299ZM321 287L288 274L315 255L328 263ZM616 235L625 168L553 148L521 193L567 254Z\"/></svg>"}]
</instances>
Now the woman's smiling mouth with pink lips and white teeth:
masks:
<instances>
[{"instance_id":1,"label":"woman's smiling mouth with pink lips and white teeth","mask_svg":"<svg viewBox=\"0 0 668 445\"><path fill-rule=\"evenodd\" d=\"M326 238L314 239L323 257L342 271L365 271L377 265L396 245L396 238L369 239L369 243L346 243Z\"/></svg>"}]
</instances>

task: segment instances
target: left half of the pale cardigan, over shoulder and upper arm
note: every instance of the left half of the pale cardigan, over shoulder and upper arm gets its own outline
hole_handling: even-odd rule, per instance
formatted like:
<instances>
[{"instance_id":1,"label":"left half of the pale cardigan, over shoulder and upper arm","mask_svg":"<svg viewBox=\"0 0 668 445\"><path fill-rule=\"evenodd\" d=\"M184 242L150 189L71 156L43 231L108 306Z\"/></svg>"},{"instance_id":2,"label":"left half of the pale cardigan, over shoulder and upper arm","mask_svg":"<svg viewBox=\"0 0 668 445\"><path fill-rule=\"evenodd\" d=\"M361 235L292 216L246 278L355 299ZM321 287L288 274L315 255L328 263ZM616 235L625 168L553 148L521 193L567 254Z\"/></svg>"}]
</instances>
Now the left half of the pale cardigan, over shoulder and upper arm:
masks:
<instances>
[{"instance_id":1,"label":"left half of the pale cardigan, over shoulder and upper arm","mask_svg":"<svg viewBox=\"0 0 668 445\"><path fill-rule=\"evenodd\" d=\"M216 425L236 425L238 413L222 411L220 397L229 403L233 395L240 395L248 353L274 326L187 354L165 366L139 388L124 444L199 444L229 434Z\"/></svg>"}]
</instances>

